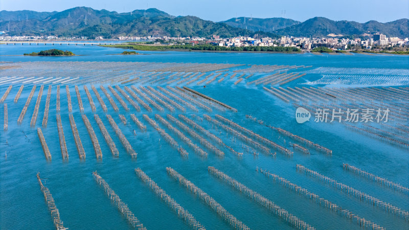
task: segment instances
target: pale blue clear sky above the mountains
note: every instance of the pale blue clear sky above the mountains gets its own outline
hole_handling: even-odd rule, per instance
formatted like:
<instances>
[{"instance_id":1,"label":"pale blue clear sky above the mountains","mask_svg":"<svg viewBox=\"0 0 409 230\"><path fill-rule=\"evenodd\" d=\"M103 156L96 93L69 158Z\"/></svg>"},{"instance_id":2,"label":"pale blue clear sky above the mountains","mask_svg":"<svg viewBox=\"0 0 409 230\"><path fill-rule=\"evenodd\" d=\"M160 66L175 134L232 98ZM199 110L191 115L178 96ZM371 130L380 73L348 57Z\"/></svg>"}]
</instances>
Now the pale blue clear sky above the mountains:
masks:
<instances>
[{"instance_id":1,"label":"pale blue clear sky above the mountains","mask_svg":"<svg viewBox=\"0 0 409 230\"><path fill-rule=\"evenodd\" d=\"M193 15L213 21L226 20L236 15L261 18L285 16L300 21L314 16L358 22L409 18L409 0L0 0L1 10L62 11L77 6L120 13L157 8L175 16Z\"/></svg>"}]
</instances>

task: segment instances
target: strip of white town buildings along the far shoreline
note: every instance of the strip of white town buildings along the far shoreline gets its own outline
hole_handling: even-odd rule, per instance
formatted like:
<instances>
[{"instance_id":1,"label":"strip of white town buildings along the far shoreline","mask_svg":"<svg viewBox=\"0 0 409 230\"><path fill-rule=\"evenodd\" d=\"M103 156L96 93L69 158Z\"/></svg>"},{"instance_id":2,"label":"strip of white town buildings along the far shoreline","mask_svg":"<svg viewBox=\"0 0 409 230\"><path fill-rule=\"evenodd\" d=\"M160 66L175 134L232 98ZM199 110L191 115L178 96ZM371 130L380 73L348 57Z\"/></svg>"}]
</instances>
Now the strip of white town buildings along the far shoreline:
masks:
<instances>
[{"instance_id":1,"label":"strip of white town buildings along the far shoreline","mask_svg":"<svg viewBox=\"0 0 409 230\"><path fill-rule=\"evenodd\" d=\"M58 37L58 36L0 36L0 44L15 44L15 42L38 42L38 41L89 41L87 37ZM211 39L205 37L124 37L105 39L96 37L92 41L116 41L145 42L153 45L185 45L185 44L210 44L218 47L293 47L304 52L309 52L314 48L328 48L332 51L353 51L353 50L392 50L393 48L409 48L409 38L387 37L384 34L375 33L366 38L338 38L335 35L321 38L282 36L280 38L262 37L252 38L246 36L220 38L213 35Z\"/></svg>"}]
</instances>

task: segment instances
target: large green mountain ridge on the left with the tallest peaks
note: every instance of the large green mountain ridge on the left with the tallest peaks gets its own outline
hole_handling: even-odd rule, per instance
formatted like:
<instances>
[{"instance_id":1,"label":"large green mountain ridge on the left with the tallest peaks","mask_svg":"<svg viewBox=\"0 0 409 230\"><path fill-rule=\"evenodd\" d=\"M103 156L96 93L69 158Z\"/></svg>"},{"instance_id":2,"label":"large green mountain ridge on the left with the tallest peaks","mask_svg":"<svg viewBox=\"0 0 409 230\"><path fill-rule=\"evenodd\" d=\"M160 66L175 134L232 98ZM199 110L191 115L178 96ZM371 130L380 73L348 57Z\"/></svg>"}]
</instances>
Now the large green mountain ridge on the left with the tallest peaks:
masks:
<instances>
[{"instance_id":1,"label":"large green mountain ridge on the left with the tallest peaks","mask_svg":"<svg viewBox=\"0 0 409 230\"><path fill-rule=\"evenodd\" d=\"M39 13L39 12L38 12ZM17 15L22 15L17 12ZM3 15L7 15L3 13ZM11 15L11 13L9 13ZM46 16L46 17L44 17ZM16 16L14 17L16 18ZM10 28L10 30L9 30ZM61 12L31 16L28 20L0 18L0 30L8 35L60 35L60 36L271 36L266 32L253 32L234 28L220 22L203 20L195 16L172 16L158 9L134 10L128 13L75 7Z\"/></svg>"}]
</instances>

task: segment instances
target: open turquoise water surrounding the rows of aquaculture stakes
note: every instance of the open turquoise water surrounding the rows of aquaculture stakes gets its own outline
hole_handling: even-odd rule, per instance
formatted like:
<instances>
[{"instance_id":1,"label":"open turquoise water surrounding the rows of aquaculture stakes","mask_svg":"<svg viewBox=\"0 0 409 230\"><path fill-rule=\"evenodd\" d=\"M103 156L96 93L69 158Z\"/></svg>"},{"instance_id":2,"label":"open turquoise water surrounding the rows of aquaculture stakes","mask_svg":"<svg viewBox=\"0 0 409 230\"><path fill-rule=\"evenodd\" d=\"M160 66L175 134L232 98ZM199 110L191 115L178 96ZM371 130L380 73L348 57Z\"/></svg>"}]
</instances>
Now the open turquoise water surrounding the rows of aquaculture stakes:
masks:
<instances>
[{"instance_id":1,"label":"open turquoise water surrounding the rows of aquaculture stakes","mask_svg":"<svg viewBox=\"0 0 409 230\"><path fill-rule=\"evenodd\" d=\"M50 48L50 45L2 45L0 47L0 61L148 61L148 62L203 62L203 63L239 63L239 64L287 64L287 65L312 65L310 70L318 67L344 68L342 72L333 74L354 74L353 68L369 68L379 74L389 74L388 70L395 72L407 72L409 56L384 56L384 55L312 55L312 54L246 54L246 53L201 53L201 52L140 52L150 55L106 55L118 54L122 50L101 47L61 47L78 55L75 57L23 57L5 56L19 55L33 51ZM55 47L53 47L55 48ZM57 46L60 49L59 46ZM346 68L346 69L345 69ZM333 70L333 69L330 69ZM350 73L345 73L350 70ZM297 70L302 71L302 70ZM356 73L361 74L356 71ZM394 72L394 73L395 73ZM0 72L1 73L1 72ZM395 75L395 74L393 74ZM301 83L320 79L322 74L312 73L289 84L299 86ZM314 192L321 197L330 200L345 209L373 221L388 229L407 229L408 221L387 213L382 209L371 206L366 202L346 195L335 190L322 182L309 178L296 171L296 164L301 164L343 182L355 189L365 192L380 200L390 202L403 210L409 210L409 196L395 192L388 188L376 185L370 180L360 178L343 170L342 164L348 163L360 167L366 171L377 174L391 181L399 182L409 187L409 154L407 149L402 149L388 143L382 143L371 137L361 135L347 129L341 124L317 124L307 122L298 124L294 119L294 107L282 102L278 98L266 93L256 86L245 84L233 85L235 79L224 81L223 84L213 84L206 88L191 86L216 100L222 101L238 109L237 113L221 112L214 110L208 113L199 110L191 114L206 113L209 115L222 114L242 126L285 145L290 142L287 137L280 136L271 129L261 126L245 118L245 114L251 114L272 126L282 127L294 134L319 143L332 150L332 155L327 156L321 152L311 150L311 155L304 155L294 151L292 157L277 153L276 157L268 156L262 152L258 156L244 153L242 157L233 155L226 149L224 157L209 153L208 158L201 158L185 144L182 146L189 152L189 158L183 159L179 153L171 148L165 140L150 126L142 114L147 113L150 118L154 114L166 117L169 112L157 111L149 113L141 106L141 112L134 111L128 103L130 111L125 111L115 97L120 111L124 114L129 125L120 122L118 114L113 112L107 98L98 90L108 107L108 113L116 121L122 132L126 135L133 149L138 153L137 160L131 159L122 147L118 137L109 125L105 114L100 108L93 92L97 114L102 119L113 141L120 152L119 158L113 158L103 136L93 118L93 112L89 108L85 91L80 88L85 114L92 124L103 151L103 159L97 160L91 140L81 119L74 86L70 86L73 115L78 131L86 152L86 160L80 161L75 147L74 137L71 132L69 116L66 111L67 100L64 87L60 89L61 119L65 134L70 159L63 161L58 141L56 125L56 90L53 85L50 102L49 121L47 128L41 128L52 154L52 161L47 162L37 136L37 130L30 127L30 120L34 111L39 87L35 91L33 99L27 110L21 125L17 125L17 119L24 107L32 86L25 86L19 101L14 104L13 100L18 86L13 86L5 103L9 109L9 130L0 131L0 228L2 229L51 229L53 222L44 202L43 195L36 180L36 172L40 172L42 178L46 178L45 186L50 189L57 208L60 212L64 226L70 229L126 229L130 228L126 219L121 216L115 205L105 195L94 181L92 172L98 173L109 183L121 199L126 202L130 210L141 220L148 229L187 229L183 220L156 195L149 187L135 176L134 168L141 168L162 189L164 189L181 206L191 212L193 216L208 229L229 229L229 224L219 218L204 202L196 198L185 187L170 178L165 167L174 170L191 180L197 187L207 192L218 201L226 210L254 229L290 229L286 222L269 214L256 202L237 192L230 186L219 181L207 172L208 166L223 171L235 178L247 187L257 191L266 198L275 201L288 212L296 215L317 229L357 229L359 225L346 217L328 211L315 204L315 201L307 199L279 183L257 172L256 167L269 170L290 180L297 185ZM304 85L301 85L304 86ZM0 85L0 94L3 95L7 85ZM332 87L332 86L331 86ZM90 87L88 87L90 88ZM41 126L46 104L47 87L44 86L36 127ZM137 126L132 123L130 114L135 113L140 121L147 125L147 132L139 132ZM179 111L173 113L176 117ZM0 106L0 118L3 120L3 105ZM157 122L169 134L161 123ZM172 123L172 122L171 122ZM198 123L218 136L222 131L222 140L240 151L240 142L234 143L223 130L210 125L206 120ZM0 122L2 124L2 122ZM172 123L175 127L175 124ZM138 130L137 135L133 129ZM27 137L25 136L27 135ZM175 140L182 143L175 135ZM193 140L193 139L192 139ZM7 141L7 144L6 144ZM197 143L196 141L194 141ZM199 144L200 145L200 144ZM288 147L288 146L287 146ZM7 151L7 159L3 157Z\"/></svg>"}]
</instances>

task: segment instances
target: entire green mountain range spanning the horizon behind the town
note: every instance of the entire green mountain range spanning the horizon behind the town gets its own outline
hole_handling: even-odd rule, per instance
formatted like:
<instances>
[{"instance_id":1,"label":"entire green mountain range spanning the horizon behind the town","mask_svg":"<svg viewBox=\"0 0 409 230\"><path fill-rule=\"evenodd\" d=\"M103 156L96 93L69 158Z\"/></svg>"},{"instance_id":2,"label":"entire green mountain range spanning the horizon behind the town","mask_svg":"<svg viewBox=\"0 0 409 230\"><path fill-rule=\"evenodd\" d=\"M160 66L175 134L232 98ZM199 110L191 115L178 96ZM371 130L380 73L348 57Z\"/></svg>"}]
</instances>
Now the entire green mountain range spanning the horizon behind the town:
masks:
<instances>
[{"instance_id":1,"label":"entire green mountain range spanning the horizon behind the town","mask_svg":"<svg viewBox=\"0 0 409 230\"><path fill-rule=\"evenodd\" d=\"M171 36L212 37L369 37L383 33L388 37L408 37L409 19L381 23L334 21L314 17L304 22L288 18L231 18L213 22L195 16L172 16L158 9L118 13L75 7L61 12L0 11L0 31L7 35L86 36Z\"/></svg>"}]
</instances>

